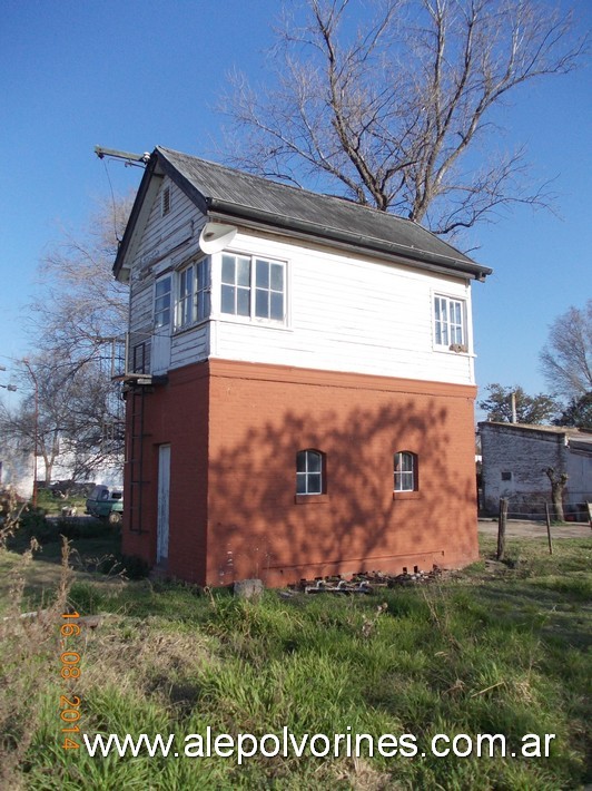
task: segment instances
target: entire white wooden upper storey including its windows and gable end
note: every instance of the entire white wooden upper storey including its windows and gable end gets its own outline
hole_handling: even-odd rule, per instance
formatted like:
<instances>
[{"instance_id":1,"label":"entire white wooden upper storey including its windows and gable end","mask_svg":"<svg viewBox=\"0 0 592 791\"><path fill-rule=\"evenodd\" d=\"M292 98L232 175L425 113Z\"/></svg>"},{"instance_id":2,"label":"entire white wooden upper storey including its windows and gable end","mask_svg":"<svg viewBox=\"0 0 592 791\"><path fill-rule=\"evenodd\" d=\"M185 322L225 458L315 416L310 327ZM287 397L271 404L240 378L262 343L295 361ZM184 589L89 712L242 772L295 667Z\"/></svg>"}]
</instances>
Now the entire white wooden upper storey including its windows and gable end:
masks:
<instances>
[{"instance_id":1,"label":"entire white wooden upper storey including its windows and gable end","mask_svg":"<svg viewBox=\"0 0 592 791\"><path fill-rule=\"evenodd\" d=\"M209 217L168 175L150 187L124 260L132 369L164 374L211 357L474 383L465 272L238 218L228 246L206 256L199 235Z\"/></svg>"}]
</instances>

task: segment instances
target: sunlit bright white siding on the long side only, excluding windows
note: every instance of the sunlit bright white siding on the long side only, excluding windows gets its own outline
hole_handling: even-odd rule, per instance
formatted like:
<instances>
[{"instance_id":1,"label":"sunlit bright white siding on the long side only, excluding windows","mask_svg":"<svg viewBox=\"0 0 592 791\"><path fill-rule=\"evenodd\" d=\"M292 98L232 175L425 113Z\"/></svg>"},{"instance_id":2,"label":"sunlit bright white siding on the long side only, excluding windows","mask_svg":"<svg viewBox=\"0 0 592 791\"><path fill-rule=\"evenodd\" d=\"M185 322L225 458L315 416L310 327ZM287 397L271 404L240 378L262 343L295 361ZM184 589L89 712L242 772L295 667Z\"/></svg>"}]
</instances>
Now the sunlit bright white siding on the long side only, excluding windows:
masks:
<instances>
[{"instance_id":1,"label":"sunlit bright white siding on the long side only, excluding windows","mask_svg":"<svg viewBox=\"0 0 592 791\"><path fill-rule=\"evenodd\" d=\"M434 349L435 293L466 301L463 280L238 235L233 251L287 261L287 328L216 316L223 359L472 384L473 355ZM213 260L213 287L219 285ZM216 303L215 303L216 306ZM471 322L467 321L471 333ZM468 334L472 343L471 334ZM471 349L471 346L470 346Z\"/></svg>"}]
</instances>

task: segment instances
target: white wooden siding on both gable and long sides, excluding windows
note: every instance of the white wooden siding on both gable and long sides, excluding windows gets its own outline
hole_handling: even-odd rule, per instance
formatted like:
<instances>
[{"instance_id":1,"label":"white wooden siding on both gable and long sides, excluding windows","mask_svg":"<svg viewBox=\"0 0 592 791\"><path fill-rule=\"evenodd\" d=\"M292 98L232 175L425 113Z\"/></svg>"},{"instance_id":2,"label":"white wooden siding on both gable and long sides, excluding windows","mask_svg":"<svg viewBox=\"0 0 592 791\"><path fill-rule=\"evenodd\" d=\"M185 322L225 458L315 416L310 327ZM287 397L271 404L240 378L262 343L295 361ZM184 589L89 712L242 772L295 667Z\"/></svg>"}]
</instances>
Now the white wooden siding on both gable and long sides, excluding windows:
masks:
<instances>
[{"instance_id":1,"label":"white wooden siding on both gable and long sides, excluding windows","mask_svg":"<svg viewBox=\"0 0 592 791\"><path fill-rule=\"evenodd\" d=\"M160 193L166 186L170 187L170 212L162 217ZM131 262L131 331L145 334L154 331L154 280L198 252L204 222L189 198L164 178ZM286 326L220 314L221 254L214 255L211 321L174 333L171 368L213 355L462 384L474 382L471 292L463 279L247 233L237 234L231 252L287 263ZM466 302L468 353L434 349L436 293Z\"/></svg>"}]
</instances>

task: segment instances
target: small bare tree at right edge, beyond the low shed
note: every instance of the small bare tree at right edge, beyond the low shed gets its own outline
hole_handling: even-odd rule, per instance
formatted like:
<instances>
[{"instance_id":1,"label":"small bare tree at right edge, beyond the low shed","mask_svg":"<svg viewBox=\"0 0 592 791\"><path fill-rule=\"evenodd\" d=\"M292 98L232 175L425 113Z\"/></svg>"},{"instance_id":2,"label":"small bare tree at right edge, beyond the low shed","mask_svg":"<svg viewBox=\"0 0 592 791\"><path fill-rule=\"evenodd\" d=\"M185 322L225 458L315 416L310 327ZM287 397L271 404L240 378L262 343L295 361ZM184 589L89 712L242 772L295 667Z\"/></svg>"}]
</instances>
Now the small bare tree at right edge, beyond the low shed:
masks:
<instances>
[{"instance_id":1,"label":"small bare tree at right edge, beyond the low shed","mask_svg":"<svg viewBox=\"0 0 592 791\"><path fill-rule=\"evenodd\" d=\"M551 324L541 369L549 385L569 399L592 391L592 300L584 307L570 307Z\"/></svg>"}]
</instances>

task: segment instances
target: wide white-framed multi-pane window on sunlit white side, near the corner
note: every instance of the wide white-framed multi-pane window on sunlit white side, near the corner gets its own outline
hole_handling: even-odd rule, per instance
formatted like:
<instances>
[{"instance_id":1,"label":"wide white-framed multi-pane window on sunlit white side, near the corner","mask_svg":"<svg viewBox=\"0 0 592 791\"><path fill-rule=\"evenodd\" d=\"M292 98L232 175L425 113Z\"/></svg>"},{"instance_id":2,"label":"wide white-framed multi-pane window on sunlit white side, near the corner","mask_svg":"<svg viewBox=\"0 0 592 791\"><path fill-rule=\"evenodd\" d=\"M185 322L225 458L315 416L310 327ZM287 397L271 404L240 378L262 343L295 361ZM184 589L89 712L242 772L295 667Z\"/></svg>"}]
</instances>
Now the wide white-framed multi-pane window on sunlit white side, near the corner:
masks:
<instances>
[{"instance_id":1,"label":"wide white-framed multi-pane window on sunlit white side, near the corner","mask_svg":"<svg viewBox=\"0 0 592 791\"><path fill-rule=\"evenodd\" d=\"M221 260L220 311L283 323L286 319L286 264L256 256Z\"/></svg>"}]
</instances>

